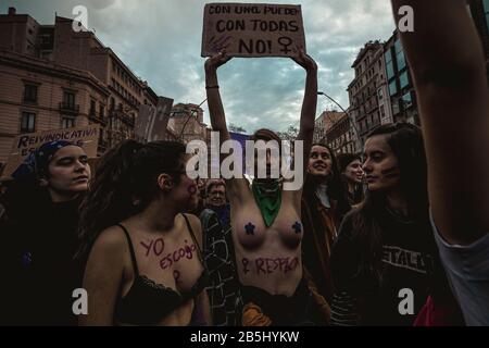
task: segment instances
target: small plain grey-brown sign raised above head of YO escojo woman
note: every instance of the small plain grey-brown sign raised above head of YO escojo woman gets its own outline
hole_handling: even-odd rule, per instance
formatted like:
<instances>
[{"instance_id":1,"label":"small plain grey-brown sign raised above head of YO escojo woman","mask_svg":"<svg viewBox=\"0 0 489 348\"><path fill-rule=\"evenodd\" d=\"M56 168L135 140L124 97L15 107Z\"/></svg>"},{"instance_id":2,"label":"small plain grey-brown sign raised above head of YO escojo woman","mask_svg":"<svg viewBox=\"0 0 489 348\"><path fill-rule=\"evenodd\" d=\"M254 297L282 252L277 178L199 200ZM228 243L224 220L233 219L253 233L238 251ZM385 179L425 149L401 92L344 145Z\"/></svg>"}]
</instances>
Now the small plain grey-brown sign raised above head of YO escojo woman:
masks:
<instances>
[{"instance_id":1,"label":"small plain grey-brown sign raised above head of YO escojo woman","mask_svg":"<svg viewBox=\"0 0 489 348\"><path fill-rule=\"evenodd\" d=\"M136 138L140 141L164 140L172 107L173 99L165 97L158 98L156 109L140 105L135 127Z\"/></svg>"}]
</instances>

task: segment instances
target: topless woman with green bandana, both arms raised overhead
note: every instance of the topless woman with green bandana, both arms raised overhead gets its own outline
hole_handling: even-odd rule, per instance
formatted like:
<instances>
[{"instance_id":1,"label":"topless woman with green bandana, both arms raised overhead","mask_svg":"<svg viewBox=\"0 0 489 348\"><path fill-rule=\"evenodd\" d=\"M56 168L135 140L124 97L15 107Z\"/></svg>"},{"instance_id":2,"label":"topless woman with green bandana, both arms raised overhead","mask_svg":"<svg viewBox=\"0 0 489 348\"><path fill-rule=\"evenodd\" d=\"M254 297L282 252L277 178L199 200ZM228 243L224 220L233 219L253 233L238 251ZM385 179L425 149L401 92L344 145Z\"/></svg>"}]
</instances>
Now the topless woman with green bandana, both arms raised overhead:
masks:
<instances>
[{"instance_id":1,"label":"topless woman with green bandana, both arms raised overhead","mask_svg":"<svg viewBox=\"0 0 489 348\"><path fill-rule=\"evenodd\" d=\"M231 45L227 49L233 50ZM233 55L238 53L234 51ZM317 65L302 49L296 53L294 62L306 71L298 136L300 141L297 142L303 145L303 153L309 153L317 102ZM211 124L213 130L220 133L221 144L230 137L220 95L217 69L230 60L229 54L222 50L205 62ZM278 136L269 129L256 130L252 140L263 140L267 146L273 141L280 144ZM302 169L302 161L308 158L303 153L296 153L296 162L300 161L296 166ZM251 187L246 178L227 181L233 241L242 285L244 326L311 324L314 316L310 306L311 293L302 273L302 189L286 190L284 177L274 178L271 175L273 156L273 151L269 156L266 153L266 177L261 178L256 177L256 173L260 173L256 160L260 159L255 152L255 178Z\"/></svg>"}]
</instances>

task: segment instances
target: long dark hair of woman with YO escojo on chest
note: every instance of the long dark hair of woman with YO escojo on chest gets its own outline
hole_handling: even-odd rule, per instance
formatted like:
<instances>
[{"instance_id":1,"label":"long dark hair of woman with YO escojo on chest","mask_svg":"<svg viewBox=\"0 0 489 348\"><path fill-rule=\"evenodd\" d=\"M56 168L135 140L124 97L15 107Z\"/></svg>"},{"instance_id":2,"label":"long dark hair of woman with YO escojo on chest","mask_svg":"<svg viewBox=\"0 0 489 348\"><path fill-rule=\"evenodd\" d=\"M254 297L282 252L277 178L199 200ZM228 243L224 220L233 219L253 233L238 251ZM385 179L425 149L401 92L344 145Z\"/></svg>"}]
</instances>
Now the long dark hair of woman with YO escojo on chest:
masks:
<instances>
[{"instance_id":1,"label":"long dark hair of woman with YO escojo on chest","mask_svg":"<svg viewBox=\"0 0 489 348\"><path fill-rule=\"evenodd\" d=\"M103 229L148 207L160 191L160 174L171 175L177 184L185 152L185 146L177 141L125 140L110 149L97 165L80 207L76 258L88 257Z\"/></svg>"}]
</instances>

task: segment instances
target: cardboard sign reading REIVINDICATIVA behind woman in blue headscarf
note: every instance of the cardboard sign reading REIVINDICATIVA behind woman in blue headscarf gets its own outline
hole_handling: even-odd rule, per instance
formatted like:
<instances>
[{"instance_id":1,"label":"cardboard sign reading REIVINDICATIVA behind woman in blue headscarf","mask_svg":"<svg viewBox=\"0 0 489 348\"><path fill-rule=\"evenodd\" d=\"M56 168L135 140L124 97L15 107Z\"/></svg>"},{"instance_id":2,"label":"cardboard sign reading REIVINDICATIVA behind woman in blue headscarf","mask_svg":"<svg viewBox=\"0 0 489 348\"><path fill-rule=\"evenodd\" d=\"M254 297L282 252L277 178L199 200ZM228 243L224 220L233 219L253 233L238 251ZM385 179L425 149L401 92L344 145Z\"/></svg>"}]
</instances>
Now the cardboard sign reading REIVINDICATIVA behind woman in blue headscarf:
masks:
<instances>
[{"instance_id":1,"label":"cardboard sign reading REIVINDICATIVA behind woman in blue headscarf","mask_svg":"<svg viewBox=\"0 0 489 348\"><path fill-rule=\"evenodd\" d=\"M36 151L37 148L49 141L71 141L83 147L89 158L95 158L97 157L97 147L99 145L99 132L100 125L89 125L86 127L21 134L13 140L12 151L7 160L1 178L11 178L12 173L15 172L30 152Z\"/></svg>"}]
</instances>

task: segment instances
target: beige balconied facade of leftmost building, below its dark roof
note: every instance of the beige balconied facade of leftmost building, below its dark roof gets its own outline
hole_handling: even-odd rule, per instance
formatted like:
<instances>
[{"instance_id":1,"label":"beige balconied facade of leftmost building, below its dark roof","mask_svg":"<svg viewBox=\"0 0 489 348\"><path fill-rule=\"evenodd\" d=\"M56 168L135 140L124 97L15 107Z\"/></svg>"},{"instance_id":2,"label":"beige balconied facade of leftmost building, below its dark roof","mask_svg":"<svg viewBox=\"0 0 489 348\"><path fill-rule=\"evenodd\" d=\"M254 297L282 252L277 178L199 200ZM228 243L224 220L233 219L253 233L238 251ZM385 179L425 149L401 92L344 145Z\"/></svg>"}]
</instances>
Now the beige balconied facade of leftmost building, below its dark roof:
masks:
<instances>
[{"instance_id":1,"label":"beige balconied facade of leftmost building, below its dark roof","mask_svg":"<svg viewBox=\"0 0 489 348\"><path fill-rule=\"evenodd\" d=\"M93 123L89 116L91 100L97 105L105 105L109 96L106 88L89 73L4 51L0 52L0 80L2 163L10 153L13 138L21 134L23 112L36 115L34 132L62 128L63 117L73 120L74 126L85 126ZM24 99L26 85L37 87L35 102ZM65 91L75 95L74 110L63 104Z\"/></svg>"}]
</instances>

